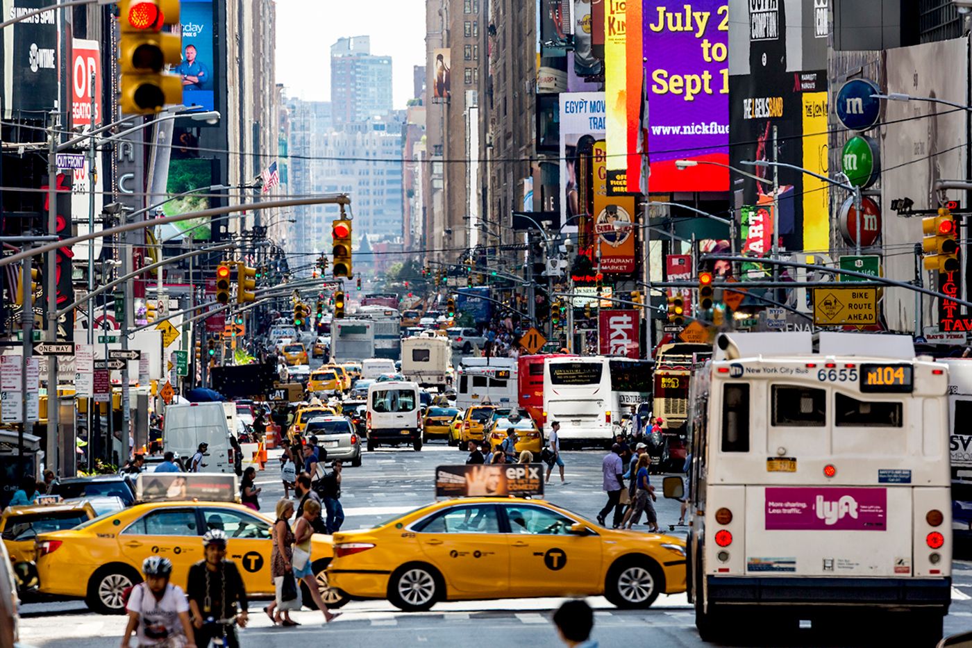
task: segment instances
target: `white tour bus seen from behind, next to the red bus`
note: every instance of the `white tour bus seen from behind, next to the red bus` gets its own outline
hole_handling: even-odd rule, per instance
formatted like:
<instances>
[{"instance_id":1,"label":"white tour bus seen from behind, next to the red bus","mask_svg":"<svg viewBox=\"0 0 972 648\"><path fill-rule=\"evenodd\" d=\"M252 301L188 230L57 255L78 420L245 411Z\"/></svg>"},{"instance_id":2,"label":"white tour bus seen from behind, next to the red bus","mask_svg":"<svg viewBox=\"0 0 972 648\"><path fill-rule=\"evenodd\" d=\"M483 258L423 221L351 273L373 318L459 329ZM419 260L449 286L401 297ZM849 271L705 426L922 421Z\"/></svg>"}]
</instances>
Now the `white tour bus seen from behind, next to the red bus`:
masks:
<instances>
[{"instance_id":1,"label":"white tour bus seen from behind, next to the red bus","mask_svg":"<svg viewBox=\"0 0 972 648\"><path fill-rule=\"evenodd\" d=\"M543 412L560 422L565 446L610 446L613 440L609 358L551 357L543 361Z\"/></svg>"}]
</instances>

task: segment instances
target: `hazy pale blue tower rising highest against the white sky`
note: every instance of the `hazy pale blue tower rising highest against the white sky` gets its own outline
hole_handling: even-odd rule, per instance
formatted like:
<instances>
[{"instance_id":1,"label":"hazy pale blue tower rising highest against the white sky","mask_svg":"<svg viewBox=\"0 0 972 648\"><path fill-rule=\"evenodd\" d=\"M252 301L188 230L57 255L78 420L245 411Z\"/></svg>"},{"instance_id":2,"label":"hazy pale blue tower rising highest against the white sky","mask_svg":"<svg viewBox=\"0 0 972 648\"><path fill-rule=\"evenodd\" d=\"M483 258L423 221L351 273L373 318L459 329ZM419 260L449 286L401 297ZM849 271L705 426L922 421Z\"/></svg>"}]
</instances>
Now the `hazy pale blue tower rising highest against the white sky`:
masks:
<instances>
[{"instance_id":1,"label":"hazy pale blue tower rising highest against the white sky","mask_svg":"<svg viewBox=\"0 0 972 648\"><path fill-rule=\"evenodd\" d=\"M370 40L344 37L330 46L330 100L338 128L392 110L392 57L371 54Z\"/></svg>"}]
</instances>

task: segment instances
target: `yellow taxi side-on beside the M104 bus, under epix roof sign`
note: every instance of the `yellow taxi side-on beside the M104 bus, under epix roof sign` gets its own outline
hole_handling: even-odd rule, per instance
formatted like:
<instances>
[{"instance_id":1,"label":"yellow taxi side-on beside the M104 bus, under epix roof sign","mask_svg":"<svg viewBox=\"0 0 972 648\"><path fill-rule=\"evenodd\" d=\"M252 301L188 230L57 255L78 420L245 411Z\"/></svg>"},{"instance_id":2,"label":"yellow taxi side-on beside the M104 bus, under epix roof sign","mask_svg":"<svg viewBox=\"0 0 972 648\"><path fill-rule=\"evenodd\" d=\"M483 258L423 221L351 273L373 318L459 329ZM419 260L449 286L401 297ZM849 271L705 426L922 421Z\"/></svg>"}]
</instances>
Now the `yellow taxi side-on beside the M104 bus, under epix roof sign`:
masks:
<instances>
[{"instance_id":1,"label":"yellow taxi side-on beside the M104 bus, under epix roof sign","mask_svg":"<svg viewBox=\"0 0 972 648\"><path fill-rule=\"evenodd\" d=\"M435 502L332 542L330 587L408 612L445 600L601 594L644 608L685 591L682 540L608 529L541 499Z\"/></svg>"}]
</instances>

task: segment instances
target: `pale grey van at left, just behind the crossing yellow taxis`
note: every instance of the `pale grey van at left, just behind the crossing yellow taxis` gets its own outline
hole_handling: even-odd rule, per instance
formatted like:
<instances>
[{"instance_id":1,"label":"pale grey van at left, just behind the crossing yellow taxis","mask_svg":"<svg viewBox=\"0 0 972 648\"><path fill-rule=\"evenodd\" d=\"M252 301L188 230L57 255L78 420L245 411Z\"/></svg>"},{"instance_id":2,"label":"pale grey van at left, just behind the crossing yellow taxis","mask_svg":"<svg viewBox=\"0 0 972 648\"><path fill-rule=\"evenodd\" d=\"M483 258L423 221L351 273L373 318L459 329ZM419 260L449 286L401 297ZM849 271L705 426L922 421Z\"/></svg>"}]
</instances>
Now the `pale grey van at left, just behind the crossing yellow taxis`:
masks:
<instances>
[{"instance_id":1,"label":"pale grey van at left, just behind the crossing yellow taxis","mask_svg":"<svg viewBox=\"0 0 972 648\"><path fill-rule=\"evenodd\" d=\"M234 412L235 414L235 412ZM189 403L165 408L165 427L162 430L165 450L172 450L188 462L199 448L209 444L203 457L205 473L234 473L235 456L229 444L229 426L223 403Z\"/></svg>"}]
</instances>

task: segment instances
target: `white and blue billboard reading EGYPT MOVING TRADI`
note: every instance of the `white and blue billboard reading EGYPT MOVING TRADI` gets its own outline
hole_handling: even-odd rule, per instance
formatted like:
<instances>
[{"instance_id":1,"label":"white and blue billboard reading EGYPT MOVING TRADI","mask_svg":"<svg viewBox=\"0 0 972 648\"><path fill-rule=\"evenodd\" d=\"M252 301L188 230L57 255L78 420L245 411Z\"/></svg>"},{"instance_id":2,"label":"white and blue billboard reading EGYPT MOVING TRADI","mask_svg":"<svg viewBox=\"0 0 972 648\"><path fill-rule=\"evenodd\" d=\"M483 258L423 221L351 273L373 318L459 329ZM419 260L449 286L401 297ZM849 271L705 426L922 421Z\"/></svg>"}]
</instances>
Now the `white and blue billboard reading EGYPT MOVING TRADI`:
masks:
<instances>
[{"instance_id":1,"label":"white and blue billboard reading EGYPT MOVING TRADI","mask_svg":"<svg viewBox=\"0 0 972 648\"><path fill-rule=\"evenodd\" d=\"M583 212L579 204L578 143L587 149L605 135L605 93L563 92L560 95L560 215L561 222ZM575 225L575 224L573 224Z\"/></svg>"}]
</instances>

